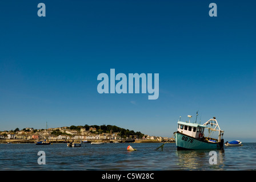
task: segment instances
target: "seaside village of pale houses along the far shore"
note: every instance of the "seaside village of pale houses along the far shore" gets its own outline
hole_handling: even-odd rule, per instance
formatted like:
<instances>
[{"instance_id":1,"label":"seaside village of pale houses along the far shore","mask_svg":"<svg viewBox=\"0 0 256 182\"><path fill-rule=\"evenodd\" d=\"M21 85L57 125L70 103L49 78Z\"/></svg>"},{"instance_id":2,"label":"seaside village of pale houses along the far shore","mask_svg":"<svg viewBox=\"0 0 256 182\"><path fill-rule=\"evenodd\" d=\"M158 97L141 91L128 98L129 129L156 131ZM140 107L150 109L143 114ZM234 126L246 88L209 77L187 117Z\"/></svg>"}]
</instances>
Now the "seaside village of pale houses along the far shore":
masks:
<instances>
[{"instance_id":1,"label":"seaside village of pale houses along the far shore","mask_svg":"<svg viewBox=\"0 0 256 182\"><path fill-rule=\"evenodd\" d=\"M143 135L138 137L137 135L126 136L122 138L120 133L98 133L95 127L90 127L89 130L81 127L80 130L71 130L69 127L58 127L51 129L33 129L26 128L19 130L18 128L14 131L1 131L0 140L50 140L51 142L65 142L69 140L145 140L164 142L170 138L155 137L149 135ZM174 140L174 139L173 139Z\"/></svg>"}]
</instances>

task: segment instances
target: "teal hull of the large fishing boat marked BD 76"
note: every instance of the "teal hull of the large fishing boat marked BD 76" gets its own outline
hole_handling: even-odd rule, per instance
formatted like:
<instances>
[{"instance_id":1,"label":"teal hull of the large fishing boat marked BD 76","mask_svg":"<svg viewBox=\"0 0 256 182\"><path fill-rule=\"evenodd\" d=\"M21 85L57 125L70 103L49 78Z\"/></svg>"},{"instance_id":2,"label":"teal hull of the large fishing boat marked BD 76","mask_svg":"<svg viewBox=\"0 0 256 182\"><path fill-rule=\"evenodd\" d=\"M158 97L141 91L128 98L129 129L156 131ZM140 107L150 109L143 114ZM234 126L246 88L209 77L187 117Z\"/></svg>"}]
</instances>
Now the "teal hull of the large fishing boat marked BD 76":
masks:
<instances>
[{"instance_id":1,"label":"teal hull of the large fishing boat marked BD 76","mask_svg":"<svg viewBox=\"0 0 256 182\"><path fill-rule=\"evenodd\" d=\"M177 150L214 150L223 148L223 140L222 142L211 143L190 137L178 131L175 133L175 142Z\"/></svg>"}]
</instances>

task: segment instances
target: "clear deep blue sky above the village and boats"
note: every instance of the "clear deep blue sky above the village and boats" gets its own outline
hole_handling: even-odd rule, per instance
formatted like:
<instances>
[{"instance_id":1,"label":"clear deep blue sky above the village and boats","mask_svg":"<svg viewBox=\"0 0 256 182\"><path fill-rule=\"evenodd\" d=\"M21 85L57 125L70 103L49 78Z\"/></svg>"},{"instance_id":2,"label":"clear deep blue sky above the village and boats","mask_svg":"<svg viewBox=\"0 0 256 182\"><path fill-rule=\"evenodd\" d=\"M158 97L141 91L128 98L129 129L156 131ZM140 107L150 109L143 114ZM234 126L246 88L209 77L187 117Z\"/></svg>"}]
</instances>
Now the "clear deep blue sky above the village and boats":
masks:
<instances>
[{"instance_id":1,"label":"clear deep blue sky above the village and boats","mask_svg":"<svg viewBox=\"0 0 256 182\"><path fill-rule=\"evenodd\" d=\"M38 3L46 17L38 17ZM217 3L218 16L209 16ZM216 117L256 140L255 1L0 2L0 130L116 125L171 137ZM99 94L99 73L159 73L159 98Z\"/></svg>"}]
</instances>

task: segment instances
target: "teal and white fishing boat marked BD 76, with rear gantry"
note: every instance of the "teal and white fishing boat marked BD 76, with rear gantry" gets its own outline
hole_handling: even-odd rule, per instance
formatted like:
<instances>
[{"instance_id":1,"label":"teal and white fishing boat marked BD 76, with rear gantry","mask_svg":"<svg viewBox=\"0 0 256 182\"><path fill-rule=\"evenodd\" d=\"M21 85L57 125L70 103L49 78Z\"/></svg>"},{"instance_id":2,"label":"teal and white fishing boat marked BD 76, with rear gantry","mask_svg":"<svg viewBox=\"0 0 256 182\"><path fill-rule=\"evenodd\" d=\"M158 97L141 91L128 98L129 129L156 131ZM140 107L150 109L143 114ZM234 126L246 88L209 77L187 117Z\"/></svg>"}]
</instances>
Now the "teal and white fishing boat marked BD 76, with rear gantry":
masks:
<instances>
[{"instance_id":1,"label":"teal and white fishing boat marked BD 76, with rear gantry","mask_svg":"<svg viewBox=\"0 0 256 182\"><path fill-rule=\"evenodd\" d=\"M188 115L188 117L191 118L191 115ZM210 125L210 127L207 125ZM218 138L211 138L210 134L205 137L204 131L206 129L209 130L210 134L214 131L218 132ZM174 133L177 150L221 149L224 144L223 132L215 117L209 119L203 125L198 124L197 120L195 120L195 123L190 123L190 121L181 122L179 119L178 131Z\"/></svg>"}]
</instances>

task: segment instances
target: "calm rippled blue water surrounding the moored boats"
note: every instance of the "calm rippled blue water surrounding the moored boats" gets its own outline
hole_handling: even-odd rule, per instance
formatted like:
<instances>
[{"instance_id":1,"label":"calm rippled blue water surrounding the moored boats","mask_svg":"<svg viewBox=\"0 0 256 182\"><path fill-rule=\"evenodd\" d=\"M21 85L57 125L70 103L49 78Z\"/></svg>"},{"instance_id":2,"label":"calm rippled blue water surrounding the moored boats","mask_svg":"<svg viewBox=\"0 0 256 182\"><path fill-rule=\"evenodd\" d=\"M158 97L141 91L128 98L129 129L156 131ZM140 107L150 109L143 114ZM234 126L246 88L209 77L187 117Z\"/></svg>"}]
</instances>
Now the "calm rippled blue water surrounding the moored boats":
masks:
<instances>
[{"instance_id":1,"label":"calm rippled blue water surrounding the moored boats","mask_svg":"<svg viewBox=\"0 0 256 182\"><path fill-rule=\"evenodd\" d=\"M209 164L210 150L177 151L175 143L166 143L155 151L161 144L0 144L0 170L256 170L256 143L216 150L217 164ZM127 151L129 145L137 151ZM45 165L37 163L38 151L45 151Z\"/></svg>"}]
</instances>

